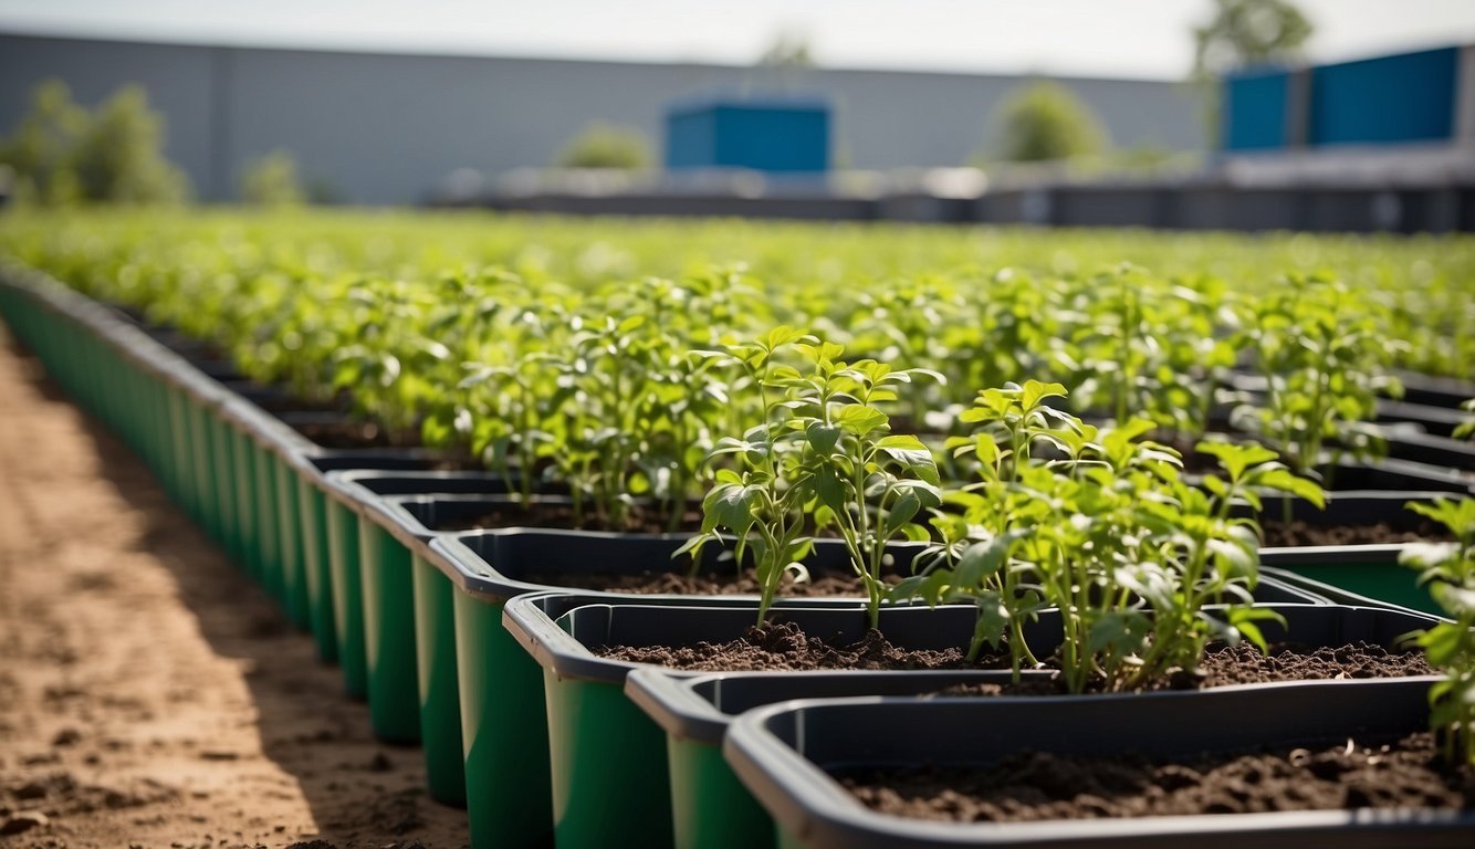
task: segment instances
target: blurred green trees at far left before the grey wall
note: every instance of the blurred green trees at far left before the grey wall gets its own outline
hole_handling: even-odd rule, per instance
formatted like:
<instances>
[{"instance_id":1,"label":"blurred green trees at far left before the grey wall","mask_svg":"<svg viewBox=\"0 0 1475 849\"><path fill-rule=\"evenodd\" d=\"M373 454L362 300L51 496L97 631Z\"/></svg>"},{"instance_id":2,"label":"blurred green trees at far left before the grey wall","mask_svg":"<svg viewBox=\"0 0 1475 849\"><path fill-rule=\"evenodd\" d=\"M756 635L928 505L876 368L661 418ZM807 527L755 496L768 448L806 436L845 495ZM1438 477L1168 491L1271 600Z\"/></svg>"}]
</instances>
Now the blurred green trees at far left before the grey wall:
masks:
<instances>
[{"instance_id":1,"label":"blurred green trees at far left before the grey wall","mask_svg":"<svg viewBox=\"0 0 1475 849\"><path fill-rule=\"evenodd\" d=\"M164 118L140 85L88 113L65 83L41 83L0 161L16 171L22 202L176 203L190 195L189 178L164 158Z\"/></svg>"}]
</instances>

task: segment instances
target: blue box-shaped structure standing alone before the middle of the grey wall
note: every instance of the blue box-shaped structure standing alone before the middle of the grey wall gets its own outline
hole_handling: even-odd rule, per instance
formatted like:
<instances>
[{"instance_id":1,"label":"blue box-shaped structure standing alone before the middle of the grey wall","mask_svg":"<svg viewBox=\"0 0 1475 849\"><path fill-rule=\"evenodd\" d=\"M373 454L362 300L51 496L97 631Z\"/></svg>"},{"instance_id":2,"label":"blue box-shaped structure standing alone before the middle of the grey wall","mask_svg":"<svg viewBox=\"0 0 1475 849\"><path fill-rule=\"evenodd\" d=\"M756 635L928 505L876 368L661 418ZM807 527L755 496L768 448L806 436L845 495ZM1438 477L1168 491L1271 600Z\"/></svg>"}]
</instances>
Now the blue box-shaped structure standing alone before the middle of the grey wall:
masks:
<instances>
[{"instance_id":1,"label":"blue box-shaped structure standing alone before the middle of the grey wall","mask_svg":"<svg viewBox=\"0 0 1475 849\"><path fill-rule=\"evenodd\" d=\"M752 168L767 174L829 170L830 109L819 99L709 97L665 115L665 167Z\"/></svg>"}]
</instances>

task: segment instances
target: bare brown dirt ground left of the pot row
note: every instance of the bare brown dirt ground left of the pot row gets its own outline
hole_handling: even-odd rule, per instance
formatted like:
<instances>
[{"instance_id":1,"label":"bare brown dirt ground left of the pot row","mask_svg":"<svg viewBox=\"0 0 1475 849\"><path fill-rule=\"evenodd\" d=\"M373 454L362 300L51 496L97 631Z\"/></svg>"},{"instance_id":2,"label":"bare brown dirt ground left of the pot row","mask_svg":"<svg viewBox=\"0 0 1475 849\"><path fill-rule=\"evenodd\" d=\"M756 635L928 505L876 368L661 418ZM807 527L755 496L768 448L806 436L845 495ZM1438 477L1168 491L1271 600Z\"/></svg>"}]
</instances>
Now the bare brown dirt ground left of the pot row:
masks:
<instances>
[{"instance_id":1,"label":"bare brown dirt ground left of the pot row","mask_svg":"<svg viewBox=\"0 0 1475 849\"><path fill-rule=\"evenodd\" d=\"M0 846L465 846L423 778L0 327Z\"/></svg>"}]
</instances>

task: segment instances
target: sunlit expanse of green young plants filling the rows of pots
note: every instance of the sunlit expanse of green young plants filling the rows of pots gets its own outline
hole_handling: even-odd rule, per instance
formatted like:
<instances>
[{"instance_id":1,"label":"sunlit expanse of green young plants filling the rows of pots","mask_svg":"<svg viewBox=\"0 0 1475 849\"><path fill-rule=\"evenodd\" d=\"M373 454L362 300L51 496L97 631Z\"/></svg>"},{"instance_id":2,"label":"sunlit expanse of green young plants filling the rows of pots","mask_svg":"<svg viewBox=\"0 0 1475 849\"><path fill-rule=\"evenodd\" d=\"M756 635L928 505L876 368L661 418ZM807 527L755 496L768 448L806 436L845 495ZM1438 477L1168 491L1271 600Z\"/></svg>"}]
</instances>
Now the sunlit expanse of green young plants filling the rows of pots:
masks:
<instances>
[{"instance_id":1,"label":"sunlit expanse of green young plants filling the rows of pots","mask_svg":"<svg viewBox=\"0 0 1475 849\"><path fill-rule=\"evenodd\" d=\"M1443 494L1385 501L1428 534L1389 565L1444 615L1407 644L1475 764L1475 239L94 211L6 217L0 258L345 413L355 448L664 535L650 570L751 570L748 623L827 548L869 628L962 606L960 663L1065 694L1267 650L1267 526L1413 439L1438 460L1409 489Z\"/></svg>"}]
</instances>

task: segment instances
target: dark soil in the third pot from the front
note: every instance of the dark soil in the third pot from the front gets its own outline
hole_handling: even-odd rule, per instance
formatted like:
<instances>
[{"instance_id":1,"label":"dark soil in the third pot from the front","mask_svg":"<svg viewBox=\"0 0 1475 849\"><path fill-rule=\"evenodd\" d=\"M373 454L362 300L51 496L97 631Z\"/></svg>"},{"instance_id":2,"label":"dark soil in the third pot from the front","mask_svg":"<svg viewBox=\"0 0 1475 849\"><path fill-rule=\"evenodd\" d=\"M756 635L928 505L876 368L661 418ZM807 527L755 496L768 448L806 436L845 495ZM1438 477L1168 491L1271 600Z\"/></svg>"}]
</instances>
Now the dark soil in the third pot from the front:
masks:
<instances>
[{"instance_id":1,"label":"dark soil in the third pot from the front","mask_svg":"<svg viewBox=\"0 0 1475 849\"><path fill-rule=\"evenodd\" d=\"M860 641L830 646L810 637L792 622L770 622L749 628L727 643L696 646L605 646L594 654L612 660L656 663L673 669L735 672L748 669L1007 669L1007 654L985 654L969 663L962 649L916 650L892 646L879 631L869 631ZM1302 681L1326 678L1397 678L1432 675L1422 651L1389 651L1382 646L1356 643L1336 649L1307 649L1273 644L1268 654L1254 646L1211 647L1198 672L1183 672L1159 688L1193 690L1229 684L1266 681ZM1063 681L1046 678L1018 685L987 685L978 690L950 690L948 694L1053 696L1063 693Z\"/></svg>"}]
</instances>

